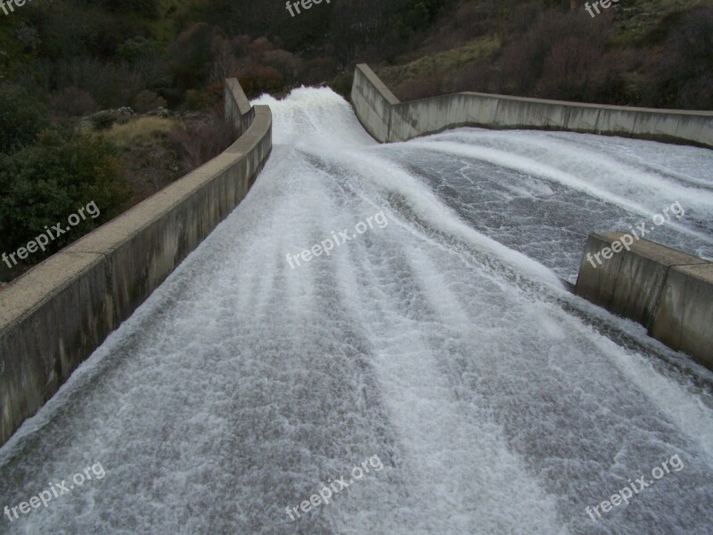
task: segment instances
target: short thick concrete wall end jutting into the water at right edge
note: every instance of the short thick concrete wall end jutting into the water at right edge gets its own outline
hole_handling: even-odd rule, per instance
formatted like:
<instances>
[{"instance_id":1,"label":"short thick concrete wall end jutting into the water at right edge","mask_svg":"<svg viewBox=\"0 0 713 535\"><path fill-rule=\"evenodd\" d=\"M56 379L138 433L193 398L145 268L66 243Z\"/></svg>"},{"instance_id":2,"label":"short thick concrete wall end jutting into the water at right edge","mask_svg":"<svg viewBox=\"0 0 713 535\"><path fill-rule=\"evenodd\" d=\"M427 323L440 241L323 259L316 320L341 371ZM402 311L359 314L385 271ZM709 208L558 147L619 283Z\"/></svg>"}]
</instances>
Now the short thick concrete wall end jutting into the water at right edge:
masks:
<instances>
[{"instance_id":1,"label":"short thick concrete wall end jutting into the water at right edge","mask_svg":"<svg viewBox=\"0 0 713 535\"><path fill-rule=\"evenodd\" d=\"M713 369L713 263L648 240L612 251L622 235L589 235L575 292Z\"/></svg>"}]
</instances>

